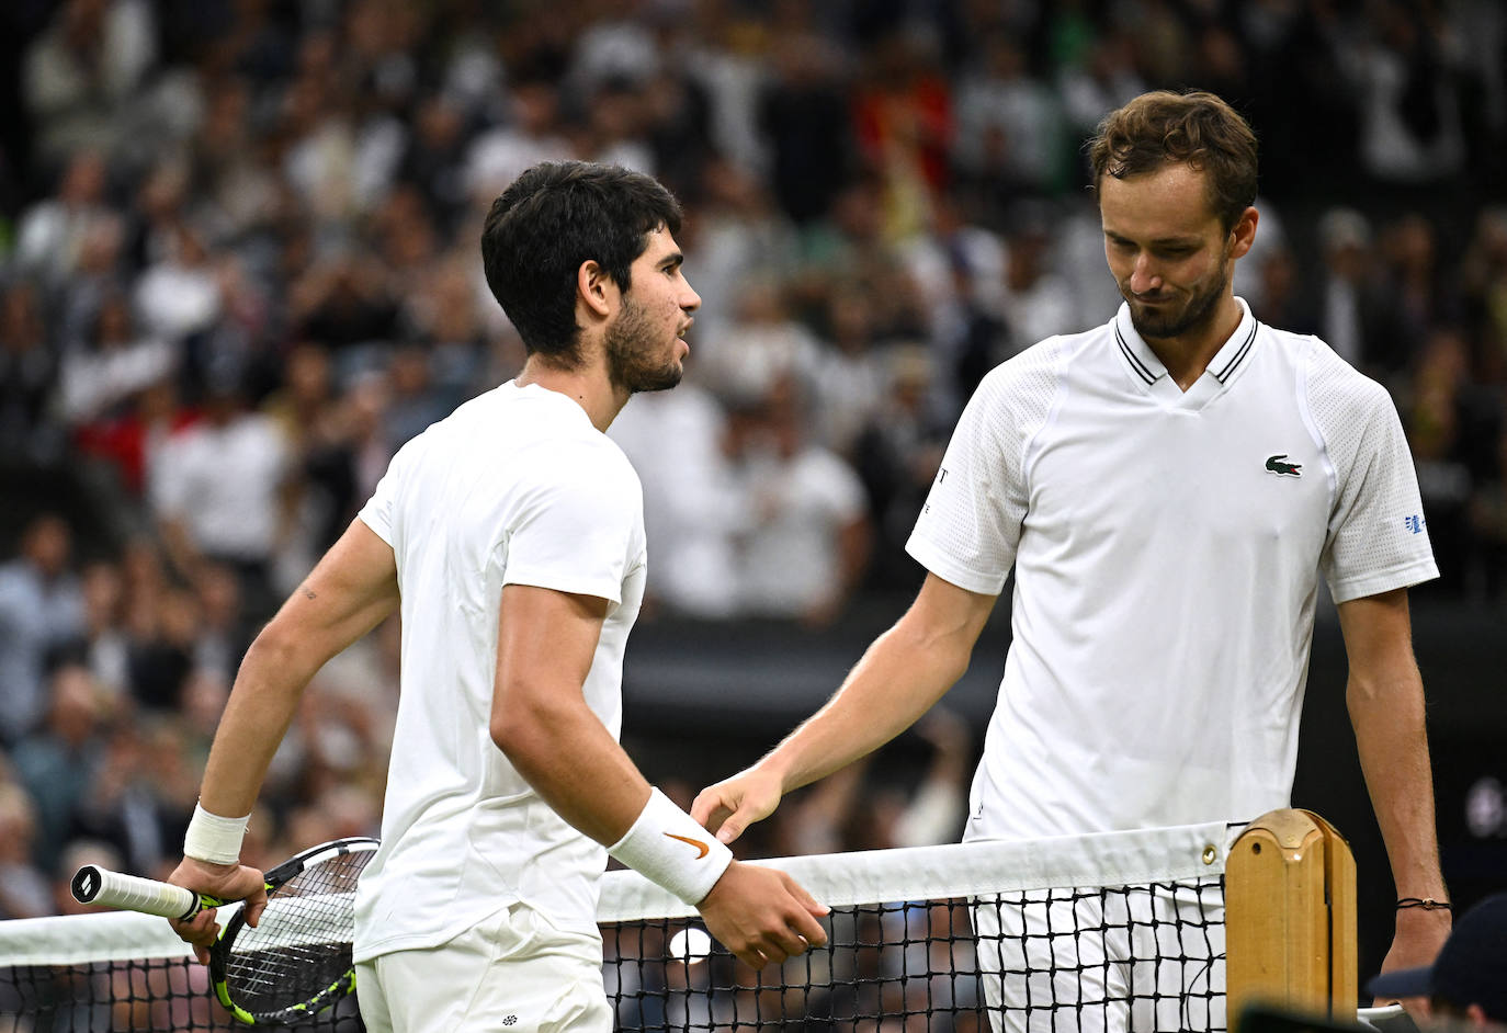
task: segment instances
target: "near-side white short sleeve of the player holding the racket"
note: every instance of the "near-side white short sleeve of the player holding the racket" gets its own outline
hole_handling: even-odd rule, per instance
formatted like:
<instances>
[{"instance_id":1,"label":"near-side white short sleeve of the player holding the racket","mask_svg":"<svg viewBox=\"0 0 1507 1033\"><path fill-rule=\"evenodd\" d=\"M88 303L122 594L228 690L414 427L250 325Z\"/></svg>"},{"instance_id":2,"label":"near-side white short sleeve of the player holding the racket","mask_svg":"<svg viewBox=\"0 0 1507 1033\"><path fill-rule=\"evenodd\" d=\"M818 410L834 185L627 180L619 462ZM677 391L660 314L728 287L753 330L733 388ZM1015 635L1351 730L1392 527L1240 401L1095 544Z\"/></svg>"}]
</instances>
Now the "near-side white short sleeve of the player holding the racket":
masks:
<instances>
[{"instance_id":1,"label":"near-side white short sleeve of the player holding the racket","mask_svg":"<svg viewBox=\"0 0 1507 1033\"><path fill-rule=\"evenodd\" d=\"M506 532L503 584L622 602L640 553L643 495L628 461L603 444L570 443L550 462L533 462L533 483Z\"/></svg>"}]
</instances>

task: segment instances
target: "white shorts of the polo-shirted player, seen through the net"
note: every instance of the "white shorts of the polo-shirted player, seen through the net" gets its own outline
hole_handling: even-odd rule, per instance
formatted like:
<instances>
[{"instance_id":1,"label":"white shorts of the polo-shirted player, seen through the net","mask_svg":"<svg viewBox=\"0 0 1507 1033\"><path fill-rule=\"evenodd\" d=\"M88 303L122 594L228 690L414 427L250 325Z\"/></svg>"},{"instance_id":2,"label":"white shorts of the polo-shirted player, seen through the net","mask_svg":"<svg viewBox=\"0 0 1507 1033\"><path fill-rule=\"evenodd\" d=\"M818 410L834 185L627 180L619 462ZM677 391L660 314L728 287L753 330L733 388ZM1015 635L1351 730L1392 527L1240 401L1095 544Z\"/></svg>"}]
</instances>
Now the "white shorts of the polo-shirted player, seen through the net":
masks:
<instances>
[{"instance_id":1,"label":"white shorts of the polo-shirted player, seen through the net","mask_svg":"<svg viewBox=\"0 0 1507 1033\"><path fill-rule=\"evenodd\" d=\"M1007 894L974 929L995 1033L1225 1028L1218 888Z\"/></svg>"}]
</instances>

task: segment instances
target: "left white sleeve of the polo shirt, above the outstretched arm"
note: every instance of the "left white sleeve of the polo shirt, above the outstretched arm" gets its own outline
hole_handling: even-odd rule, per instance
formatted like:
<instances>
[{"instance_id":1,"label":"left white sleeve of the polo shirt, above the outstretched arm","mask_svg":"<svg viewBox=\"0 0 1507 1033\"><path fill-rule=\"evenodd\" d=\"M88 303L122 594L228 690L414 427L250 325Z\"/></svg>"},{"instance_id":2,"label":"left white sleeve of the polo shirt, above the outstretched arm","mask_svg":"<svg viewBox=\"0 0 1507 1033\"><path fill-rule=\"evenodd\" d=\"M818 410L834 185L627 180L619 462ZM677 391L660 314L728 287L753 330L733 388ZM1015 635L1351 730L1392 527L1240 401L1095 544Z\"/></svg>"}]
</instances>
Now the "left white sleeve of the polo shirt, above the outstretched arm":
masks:
<instances>
[{"instance_id":1,"label":"left white sleeve of the polo shirt, above the outstretched arm","mask_svg":"<svg viewBox=\"0 0 1507 1033\"><path fill-rule=\"evenodd\" d=\"M1025 447L1056 389L1053 349L1037 345L978 385L906 542L924 568L969 592L999 595L1026 516Z\"/></svg>"}]
</instances>

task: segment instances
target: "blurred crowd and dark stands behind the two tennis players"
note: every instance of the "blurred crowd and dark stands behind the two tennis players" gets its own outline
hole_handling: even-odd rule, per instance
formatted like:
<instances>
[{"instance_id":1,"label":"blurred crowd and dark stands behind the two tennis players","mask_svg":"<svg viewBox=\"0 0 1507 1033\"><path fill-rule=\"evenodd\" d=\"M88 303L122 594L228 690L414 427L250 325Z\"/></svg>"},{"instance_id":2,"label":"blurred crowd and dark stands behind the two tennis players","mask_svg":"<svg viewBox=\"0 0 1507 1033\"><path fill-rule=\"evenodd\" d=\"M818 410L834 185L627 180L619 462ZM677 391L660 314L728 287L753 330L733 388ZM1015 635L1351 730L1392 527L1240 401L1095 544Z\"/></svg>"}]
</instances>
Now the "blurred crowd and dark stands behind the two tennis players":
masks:
<instances>
[{"instance_id":1,"label":"blurred crowd and dark stands behind the two tennis players","mask_svg":"<svg viewBox=\"0 0 1507 1033\"><path fill-rule=\"evenodd\" d=\"M246 644L407 438L512 376L491 199L544 158L683 200L687 381L612 435L651 599L624 742L681 803L818 706L996 363L1118 303L1082 143L1153 87L1261 140L1236 291L1392 393L1445 875L1507 888L1507 11L1498 0L9 0L0 11L0 917L163 873ZM744 855L949 842L1008 646ZM396 626L310 687L247 857L375 831ZM1201 643L1189 643L1200 646ZM1295 803L1391 879L1320 614ZM1218 687L1210 687L1218 691ZM1148 702L1154 705L1154 702Z\"/></svg>"}]
</instances>

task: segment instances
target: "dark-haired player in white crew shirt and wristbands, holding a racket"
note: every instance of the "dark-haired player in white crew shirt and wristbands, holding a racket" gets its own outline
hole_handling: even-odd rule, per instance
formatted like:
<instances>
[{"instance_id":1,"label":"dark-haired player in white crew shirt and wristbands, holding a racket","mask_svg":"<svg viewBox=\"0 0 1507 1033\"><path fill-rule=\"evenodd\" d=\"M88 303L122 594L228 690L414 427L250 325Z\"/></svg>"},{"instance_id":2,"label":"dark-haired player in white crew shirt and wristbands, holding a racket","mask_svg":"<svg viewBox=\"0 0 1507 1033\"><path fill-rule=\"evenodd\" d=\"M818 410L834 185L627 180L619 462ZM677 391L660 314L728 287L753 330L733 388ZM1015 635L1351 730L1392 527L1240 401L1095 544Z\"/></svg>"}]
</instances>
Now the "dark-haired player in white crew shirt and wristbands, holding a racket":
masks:
<instances>
[{"instance_id":1,"label":"dark-haired player in white crew shirt and wristbands, holding a racket","mask_svg":"<svg viewBox=\"0 0 1507 1033\"><path fill-rule=\"evenodd\" d=\"M755 967L826 941L824 908L732 861L616 741L645 541L637 476L604 431L633 393L680 381L701 298L678 230L648 176L588 163L518 176L482 257L523 372L398 452L241 664L172 881L255 914L243 815L303 688L402 616L381 848L356 900L369 1030L612 1028L595 925L609 852L698 905ZM200 952L205 916L176 925Z\"/></svg>"}]
</instances>

